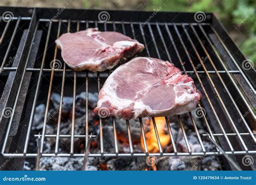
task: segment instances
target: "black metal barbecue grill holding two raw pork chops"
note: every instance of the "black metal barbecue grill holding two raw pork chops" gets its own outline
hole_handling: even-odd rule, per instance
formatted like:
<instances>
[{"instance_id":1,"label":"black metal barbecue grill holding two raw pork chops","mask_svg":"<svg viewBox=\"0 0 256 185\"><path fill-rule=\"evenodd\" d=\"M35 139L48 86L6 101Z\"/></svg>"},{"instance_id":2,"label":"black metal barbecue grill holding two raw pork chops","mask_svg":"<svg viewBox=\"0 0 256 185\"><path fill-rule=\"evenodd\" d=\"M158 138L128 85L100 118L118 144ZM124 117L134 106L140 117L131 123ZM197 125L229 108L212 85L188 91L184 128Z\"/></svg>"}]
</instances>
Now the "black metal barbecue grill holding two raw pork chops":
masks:
<instances>
[{"instance_id":1,"label":"black metal barbecue grill holding two raw pork chops","mask_svg":"<svg viewBox=\"0 0 256 185\"><path fill-rule=\"evenodd\" d=\"M232 169L238 164L242 169L255 169L255 165L244 166L245 155L255 156L255 71L250 61L239 51L232 39L212 13L203 13L198 20L196 13L106 11L107 19L99 20L103 10L45 9L1 7L13 13L10 19L2 17L1 30L1 161L9 157L11 164L6 169L22 169L25 158L35 157L37 169L40 157L139 157L139 156L225 156ZM104 10L105 11L105 10ZM60 13L59 13L60 12ZM202 13L202 12L201 12ZM153 15L153 16L152 16ZM145 23L145 21L147 21ZM152 118L156 131L159 152L150 153L143 124L139 118L144 151L133 151L131 129L126 121L130 152L119 153L117 146L116 119L112 118L114 150L104 150L104 119L99 118L99 134L89 132L88 92L99 91L106 77L112 72L75 72L63 62L55 40L65 32L76 32L98 27L100 31L118 31L145 45L140 56L169 60L185 74L190 75L203 94L197 109L201 113L205 133L199 133L194 113L188 113L203 152L192 152L182 121L188 152L178 152L172 129L166 124L173 144L173 152L165 153L159 139L157 123ZM50 65L51 64L51 65ZM60 67L51 67L60 65ZM46 134L48 111L52 91L60 93L57 133ZM69 92L72 90L72 92ZM84 134L75 134L75 108L78 92L86 92L86 123ZM64 94L73 97L72 125L70 134L60 134L60 120ZM35 108L45 100L42 133L31 132ZM172 119L172 118L171 118ZM55 140L55 152L45 153L46 139ZM59 142L70 140L70 151L59 152ZM85 140L85 153L74 152L74 140ZM99 138L100 152L90 153L90 142ZM208 151L202 138L208 138L215 152ZM37 140L36 140L37 139ZM37 152L29 153L31 142L37 142Z\"/></svg>"}]
</instances>

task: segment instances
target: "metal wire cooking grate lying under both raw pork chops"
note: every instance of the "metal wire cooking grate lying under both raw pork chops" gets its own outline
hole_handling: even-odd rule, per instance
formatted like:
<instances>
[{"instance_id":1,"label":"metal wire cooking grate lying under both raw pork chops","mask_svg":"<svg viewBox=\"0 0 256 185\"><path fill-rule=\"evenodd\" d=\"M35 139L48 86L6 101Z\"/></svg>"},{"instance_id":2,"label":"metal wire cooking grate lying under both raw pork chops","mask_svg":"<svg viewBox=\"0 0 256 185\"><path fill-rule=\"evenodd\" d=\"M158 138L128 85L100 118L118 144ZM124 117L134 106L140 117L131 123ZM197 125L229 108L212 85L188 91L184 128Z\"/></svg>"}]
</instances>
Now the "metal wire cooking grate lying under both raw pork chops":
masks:
<instances>
[{"instance_id":1,"label":"metal wire cooking grate lying under both raw pork chops","mask_svg":"<svg viewBox=\"0 0 256 185\"><path fill-rule=\"evenodd\" d=\"M24 50L28 48L28 51L23 51L23 54L27 52L27 56L30 56L32 53L33 42L36 39L36 33L38 30L42 30L41 43L39 45L39 50L43 52L38 54L37 63L33 67L28 67L29 57L20 58L19 63L22 63L23 66L10 67L6 66L6 58L9 56L9 52L12 45L12 42L15 39L15 34L18 32L18 29L21 29L21 22L27 21L30 22L29 32L25 40ZM45 26L48 23L49 26ZM2 24L2 23L1 23ZM2 154L5 157L15 156L15 157L39 157L40 156L86 156L86 153L75 153L74 152L74 139L81 138L85 140L85 147L89 139L95 140L96 137L99 137L100 153L89 153L89 157L100 157L100 156L109 156L109 157L129 157L129 156L197 156L197 155L223 155L219 147L215 148L215 152L208 151L202 141L203 137L210 137L214 142L225 149L225 154L256 154L255 148L253 146L256 143L255 133L251 122L255 119L255 109L251 105L250 97L246 96L246 88L250 89L255 93L255 89L250 83L250 79L247 78L247 75L244 70L240 67L240 61L234 58L229 50L229 46L224 43L224 40L221 39L218 31L216 30L219 25L213 23L181 23L181 22L150 22L146 25L143 25L142 22L134 21L107 21L107 22L98 22L97 20L68 20L68 19L55 19L50 20L46 18L36 18L36 10L33 10L31 17L15 17L13 22L8 22L5 24L4 32L2 33L2 40L6 35L6 30L9 30L9 26L14 24L14 29L12 30L13 34L11 39L6 41L6 44L9 44L6 51L1 49L2 53L5 52L4 59L1 63L1 76L7 78L12 72L18 74L14 81L16 80L18 84L12 84L16 86L15 93L10 93L4 102L2 107L2 117L1 121L6 124L5 127L2 127L2 135L4 136ZM150 153L147 149L146 136L144 131L144 122L142 118L139 118L139 125L144 148L145 150L141 153L133 151L132 136L129 121L126 121L127 126L127 138L129 140L130 152L129 153L119 153L117 146L117 125L115 118L112 118L113 123L113 135L114 135L114 152L106 153L104 152L104 132L103 125L104 119L99 118L99 135L90 135L89 133L89 115L88 115L88 92L92 88L89 84L89 81L98 87L98 91L103 85L103 78L105 78L109 73L102 72L93 74L88 71L83 72L74 72L65 63L63 63L60 56L59 49L54 44L54 40L57 39L64 32L75 32L78 30L83 30L85 28L98 27L100 31L118 31L122 32L127 36L130 36L134 39L139 40L140 43L143 43L146 48L141 54L142 56L156 57L163 60L169 60L174 63L179 68L183 69L185 74L189 74L196 81L198 88L203 94L203 100L198 105L198 108L203 112L202 108L206 110L206 114L203 114L203 117L200 118L203 121L204 126L206 127L205 133L199 133L196 119L194 119L193 114L188 113L189 118L192 122L193 130L197 135L201 149L203 152L192 152L190 143L188 142L186 131L184 129L185 123L182 121L183 115L178 115L177 119L181 131L186 142L188 152L177 152L177 146L173 139L172 128L170 127L168 118L166 117L166 124L169 131L170 138L173 144L173 153L165 153L161 146L159 135L157 132L157 123L154 118L152 118L153 126L156 131L156 138L158 142L158 153ZM219 28L218 28L219 29ZM24 30L24 28L23 28ZM17 38L18 39L18 38ZM3 44L3 43L1 43ZM225 57L230 58L230 61L226 61ZM24 56L24 55L22 55ZM203 59L207 58L207 62ZM40 60L38 60L40 59ZM56 60L62 61L62 68L51 69L50 61L53 60L53 65L55 65ZM22 62L24 60L24 62ZM231 65L232 63L232 65ZM19 106L19 97L22 94L22 86L24 86L24 77L26 74L32 73L38 74L38 77L32 88L35 90L32 101L29 104L32 105L30 109L29 118L26 118L25 121L25 133L23 136L22 148L19 148L18 153L13 153L8 149L10 144L11 129L13 128L15 113ZM54 77L58 76L61 78L61 87L60 87L60 105L58 112L58 124L57 124L57 133L46 134L47 128L47 119L48 111L50 104L50 96L53 91L53 83L55 83ZM31 133L31 127L33 124L33 117L35 114L35 108L39 104L38 97L42 94L44 90L42 88L42 80L46 77L50 77L47 82L49 88L45 89L48 91L46 99L46 110L45 117L43 121L43 131L42 133L33 134ZM238 78L242 79L244 83L240 83ZM60 134L60 125L62 117L62 106L63 106L63 97L66 88L66 80L72 81L73 86L73 105L72 105L72 125L70 134ZM77 80L83 80L83 85L77 83ZM32 80L32 79L31 79ZM7 84L7 83L6 83ZM6 85L5 84L5 85ZM83 91L86 91L86 123L85 123L85 133L82 135L75 135L75 108L76 108L76 95L78 90L83 88ZM242 102L242 105L241 105ZM12 113L9 118L3 117L3 113L6 107L11 107ZM247 110L247 115L245 116L245 111L241 107L245 107ZM172 119L172 118L171 118ZM238 121L240 120L240 121ZM250 121L251 120L251 121ZM254 123L255 124L255 123ZM228 125L230 127L228 127ZM250 127L251 126L251 127ZM255 125L254 125L255 126ZM228 128L228 129L227 129ZM34 138L39 138L38 150L37 153L28 153L29 143L35 142L35 139L32 140L31 136ZM46 145L46 138L52 138L55 140L55 152L54 153L44 153L44 147ZM67 138L70 139L70 152L69 153L59 153L59 142L60 139ZM237 140L237 142L233 142ZM88 147L87 147L88 148Z\"/></svg>"}]
</instances>

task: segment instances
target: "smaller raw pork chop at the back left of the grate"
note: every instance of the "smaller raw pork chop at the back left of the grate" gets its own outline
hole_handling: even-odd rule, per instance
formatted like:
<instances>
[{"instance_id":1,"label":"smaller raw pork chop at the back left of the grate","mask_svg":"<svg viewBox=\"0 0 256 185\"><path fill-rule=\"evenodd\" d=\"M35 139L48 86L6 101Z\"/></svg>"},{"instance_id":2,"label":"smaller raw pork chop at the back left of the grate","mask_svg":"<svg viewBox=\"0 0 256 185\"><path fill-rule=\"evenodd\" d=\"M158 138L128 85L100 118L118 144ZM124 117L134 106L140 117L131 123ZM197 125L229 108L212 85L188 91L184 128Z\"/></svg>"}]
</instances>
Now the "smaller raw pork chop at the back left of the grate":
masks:
<instances>
[{"instance_id":1,"label":"smaller raw pork chop at the back left of the grate","mask_svg":"<svg viewBox=\"0 0 256 185\"><path fill-rule=\"evenodd\" d=\"M137 40L97 28L65 33L55 42L65 63L76 71L105 71L144 49Z\"/></svg>"}]
</instances>

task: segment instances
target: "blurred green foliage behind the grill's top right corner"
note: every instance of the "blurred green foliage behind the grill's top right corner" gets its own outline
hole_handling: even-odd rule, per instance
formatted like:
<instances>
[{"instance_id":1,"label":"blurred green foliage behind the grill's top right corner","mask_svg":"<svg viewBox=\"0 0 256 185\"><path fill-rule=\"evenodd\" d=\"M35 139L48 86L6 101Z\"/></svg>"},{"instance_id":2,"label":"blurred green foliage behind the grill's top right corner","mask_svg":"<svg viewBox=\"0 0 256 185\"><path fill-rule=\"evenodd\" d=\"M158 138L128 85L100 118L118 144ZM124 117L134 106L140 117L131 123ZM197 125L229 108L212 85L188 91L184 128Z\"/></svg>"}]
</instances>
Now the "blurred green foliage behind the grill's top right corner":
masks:
<instances>
[{"instance_id":1,"label":"blurred green foliage behind the grill's top right corner","mask_svg":"<svg viewBox=\"0 0 256 185\"><path fill-rule=\"evenodd\" d=\"M235 37L235 43L238 44L242 53L256 64L255 0L150 0L147 8L153 10L159 6L162 11L214 12L229 32L242 33L247 38Z\"/></svg>"}]
</instances>

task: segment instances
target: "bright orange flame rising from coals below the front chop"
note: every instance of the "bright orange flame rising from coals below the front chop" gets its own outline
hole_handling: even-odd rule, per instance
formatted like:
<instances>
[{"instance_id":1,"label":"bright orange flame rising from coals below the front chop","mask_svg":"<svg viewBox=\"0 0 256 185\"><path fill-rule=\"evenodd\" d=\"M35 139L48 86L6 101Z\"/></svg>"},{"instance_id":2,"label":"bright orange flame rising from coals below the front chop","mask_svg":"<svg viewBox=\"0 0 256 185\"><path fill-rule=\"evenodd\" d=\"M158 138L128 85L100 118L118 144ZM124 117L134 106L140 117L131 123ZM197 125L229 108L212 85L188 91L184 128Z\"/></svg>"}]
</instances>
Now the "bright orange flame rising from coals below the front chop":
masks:
<instances>
[{"instance_id":1,"label":"bright orange flame rising from coals below the front chop","mask_svg":"<svg viewBox=\"0 0 256 185\"><path fill-rule=\"evenodd\" d=\"M166 130L165 117L156 117L154 118L154 120L156 121L156 126L157 126L161 147L165 147L171 140L170 136L165 131ZM146 120L145 125L149 125L150 127L150 131L145 133L147 150L149 150L150 153L157 153L159 152L159 147L158 147L156 132L154 131L152 119ZM142 136L140 136L140 143L143 149L145 149Z\"/></svg>"}]
</instances>

